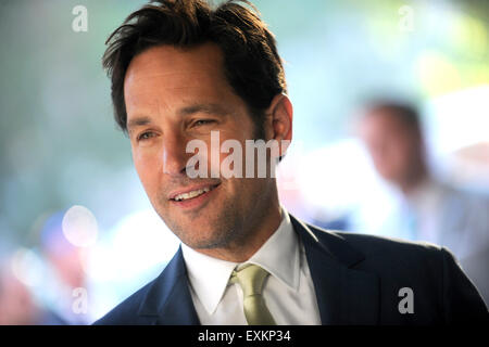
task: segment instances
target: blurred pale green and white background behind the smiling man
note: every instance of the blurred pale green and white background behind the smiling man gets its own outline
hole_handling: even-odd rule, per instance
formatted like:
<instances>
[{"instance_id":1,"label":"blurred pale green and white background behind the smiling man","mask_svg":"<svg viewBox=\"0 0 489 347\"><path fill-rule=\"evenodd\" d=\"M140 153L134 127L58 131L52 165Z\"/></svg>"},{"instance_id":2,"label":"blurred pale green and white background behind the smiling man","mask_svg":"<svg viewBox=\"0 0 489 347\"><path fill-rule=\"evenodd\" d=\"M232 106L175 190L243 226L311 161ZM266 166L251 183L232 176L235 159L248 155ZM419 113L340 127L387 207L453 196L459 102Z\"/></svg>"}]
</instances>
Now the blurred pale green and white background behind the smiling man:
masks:
<instances>
[{"instance_id":1,"label":"blurred pale green and white background behind the smiling man","mask_svg":"<svg viewBox=\"0 0 489 347\"><path fill-rule=\"evenodd\" d=\"M101 67L105 39L142 3L0 2L0 324L91 323L178 247L115 127ZM489 2L253 3L276 35L294 106L284 206L325 228L442 244L487 301ZM374 100L418 112L417 187L376 159L365 129L380 139L389 128L368 126ZM403 129L376 145L402 147ZM405 155L403 172L414 165Z\"/></svg>"}]
</instances>

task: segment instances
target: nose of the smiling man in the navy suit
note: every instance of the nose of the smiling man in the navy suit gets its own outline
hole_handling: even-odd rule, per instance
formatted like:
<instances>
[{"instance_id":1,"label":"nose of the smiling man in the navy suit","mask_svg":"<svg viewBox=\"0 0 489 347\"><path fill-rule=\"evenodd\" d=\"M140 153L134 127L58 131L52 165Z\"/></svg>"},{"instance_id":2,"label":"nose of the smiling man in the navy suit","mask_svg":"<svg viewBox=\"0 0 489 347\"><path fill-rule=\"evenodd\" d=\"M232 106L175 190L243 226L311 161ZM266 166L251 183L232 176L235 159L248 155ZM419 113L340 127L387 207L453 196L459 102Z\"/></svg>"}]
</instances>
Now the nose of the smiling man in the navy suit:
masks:
<instances>
[{"instance_id":1,"label":"nose of the smiling man in the navy suit","mask_svg":"<svg viewBox=\"0 0 489 347\"><path fill-rule=\"evenodd\" d=\"M185 152L187 141L180 134L168 133L163 140L163 174L181 176L186 172L188 154Z\"/></svg>"}]
</instances>

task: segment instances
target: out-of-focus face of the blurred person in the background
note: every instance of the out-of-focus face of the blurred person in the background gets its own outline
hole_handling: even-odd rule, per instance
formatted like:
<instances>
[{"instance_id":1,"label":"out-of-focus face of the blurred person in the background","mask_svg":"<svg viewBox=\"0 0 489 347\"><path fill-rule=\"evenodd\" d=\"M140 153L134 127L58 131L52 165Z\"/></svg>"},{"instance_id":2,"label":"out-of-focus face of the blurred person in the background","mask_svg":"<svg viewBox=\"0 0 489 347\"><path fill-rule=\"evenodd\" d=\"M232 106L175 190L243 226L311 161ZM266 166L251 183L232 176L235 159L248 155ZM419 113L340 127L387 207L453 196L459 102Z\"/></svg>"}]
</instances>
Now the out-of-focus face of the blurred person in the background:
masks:
<instances>
[{"instance_id":1,"label":"out-of-focus face of the blurred person in the background","mask_svg":"<svg viewBox=\"0 0 489 347\"><path fill-rule=\"evenodd\" d=\"M376 110L367 114L361 120L360 134L379 175L400 183L419 166L419 139L389 112Z\"/></svg>"}]
</instances>

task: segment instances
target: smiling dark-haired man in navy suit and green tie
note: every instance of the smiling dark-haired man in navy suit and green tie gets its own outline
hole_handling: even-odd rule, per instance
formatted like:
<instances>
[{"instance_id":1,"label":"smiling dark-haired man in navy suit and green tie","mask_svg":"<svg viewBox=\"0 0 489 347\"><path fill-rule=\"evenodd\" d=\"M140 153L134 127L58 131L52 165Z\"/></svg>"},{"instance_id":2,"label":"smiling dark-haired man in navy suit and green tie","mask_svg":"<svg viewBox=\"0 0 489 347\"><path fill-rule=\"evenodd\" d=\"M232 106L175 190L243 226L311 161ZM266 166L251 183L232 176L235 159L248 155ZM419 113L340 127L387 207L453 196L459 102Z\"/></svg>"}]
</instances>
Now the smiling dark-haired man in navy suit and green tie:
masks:
<instances>
[{"instance_id":1,"label":"smiling dark-haired man in navy suit and green tie","mask_svg":"<svg viewBox=\"0 0 489 347\"><path fill-rule=\"evenodd\" d=\"M246 4L147 5L111 36L104 66L141 182L183 244L160 277L98 324L428 324L486 318L477 290L443 248L308 226L281 208L273 175L189 178L190 141L210 149L218 133L223 143L244 147L247 140L287 144L292 137L275 39ZM267 168L285 149L267 152ZM212 155L203 153L199 169L211 171L227 160L223 153L217 160ZM241 164L249 163L246 155Z\"/></svg>"}]
</instances>

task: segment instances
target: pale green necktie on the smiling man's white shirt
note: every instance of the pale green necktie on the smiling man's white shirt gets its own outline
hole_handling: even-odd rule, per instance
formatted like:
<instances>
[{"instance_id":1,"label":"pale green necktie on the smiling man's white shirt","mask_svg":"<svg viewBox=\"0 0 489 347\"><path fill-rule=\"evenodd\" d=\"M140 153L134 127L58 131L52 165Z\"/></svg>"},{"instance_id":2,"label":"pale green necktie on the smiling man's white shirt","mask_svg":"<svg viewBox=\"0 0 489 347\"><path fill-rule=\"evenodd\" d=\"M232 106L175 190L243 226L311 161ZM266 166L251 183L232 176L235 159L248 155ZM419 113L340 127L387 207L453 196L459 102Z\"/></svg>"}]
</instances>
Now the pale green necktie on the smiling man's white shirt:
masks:
<instances>
[{"instance_id":1,"label":"pale green necktie on the smiling man's white shirt","mask_svg":"<svg viewBox=\"0 0 489 347\"><path fill-rule=\"evenodd\" d=\"M233 271L230 283L239 283L243 293L243 309L249 325L275 325L263 299L262 290L269 273L256 265Z\"/></svg>"}]
</instances>

